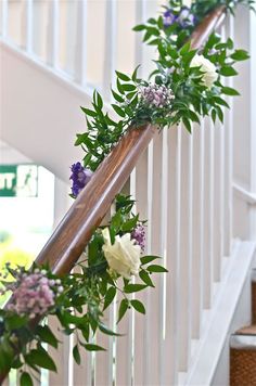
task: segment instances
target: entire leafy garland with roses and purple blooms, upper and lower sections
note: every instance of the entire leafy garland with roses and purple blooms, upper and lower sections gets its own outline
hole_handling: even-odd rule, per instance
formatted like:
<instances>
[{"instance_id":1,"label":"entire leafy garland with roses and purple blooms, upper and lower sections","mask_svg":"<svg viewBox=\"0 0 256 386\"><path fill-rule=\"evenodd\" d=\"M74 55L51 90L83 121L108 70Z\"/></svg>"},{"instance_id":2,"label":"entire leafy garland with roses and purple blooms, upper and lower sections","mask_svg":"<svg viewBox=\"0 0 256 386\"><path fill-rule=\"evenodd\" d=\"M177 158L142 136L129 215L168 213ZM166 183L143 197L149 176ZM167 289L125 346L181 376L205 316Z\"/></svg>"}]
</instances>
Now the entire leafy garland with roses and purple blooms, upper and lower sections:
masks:
<instances>
[{"instance_id":1,"label":"entire leafy garland with roses and purple blooms, upper and lower sections","mask_svg":"<svg viewBox=\"0 0 256 386\"><path fill-rule=\"evenodd\" d=\"M155 46L158 57L149 80L116 72L116 89L112 90L115 113L113 119L104 112L103 100L93 93L92 107L81 107L88 130L78 133L76 145L86 152L82 163L72 166L72 196L76 197L90 181L98 166L117 144L129 127L145 123L159 129L182 123L191 132L192 124L202 116L213 121L223 120L223 95L238 95L222 82L222 77L235 76L233 65L248 59L244 50L234 50L229 38L221 41L213 34L204 48L193 50L187 42L195 26L214 8L223 4L231 13L239 3L252 8L252 0L170 0L157 18L133 29L143 31L143 40ZM145 248L144 222L132 214L133 201L118 195L116 214L105 228L94 231L73 273L57 276L48 267L24 268L7 266L1 276L1 294L12 294L12 303L0 310L0 372L11 368L21 370L21 385L33 385L40 368L56 371L55 363L43 344L59 347L60 342L47 324L48 316L55 316L63 332L76 334L73 349L80 363L80 350L102 350L94 335L100 331L118 335L104 323L104 310L119 293L118 320L129 308L145 313L141 301L129 294L154 287L151 273L167 272L152 263L156 256L143 256ZM139 282L133 282L133 276ZM14 281L15 280L15 281ZM35 321L42 322L37 325ZM78 334L79 333L79 334ZM30 369L28 372L27 369Z\"/></svg>"}]
</instances>

